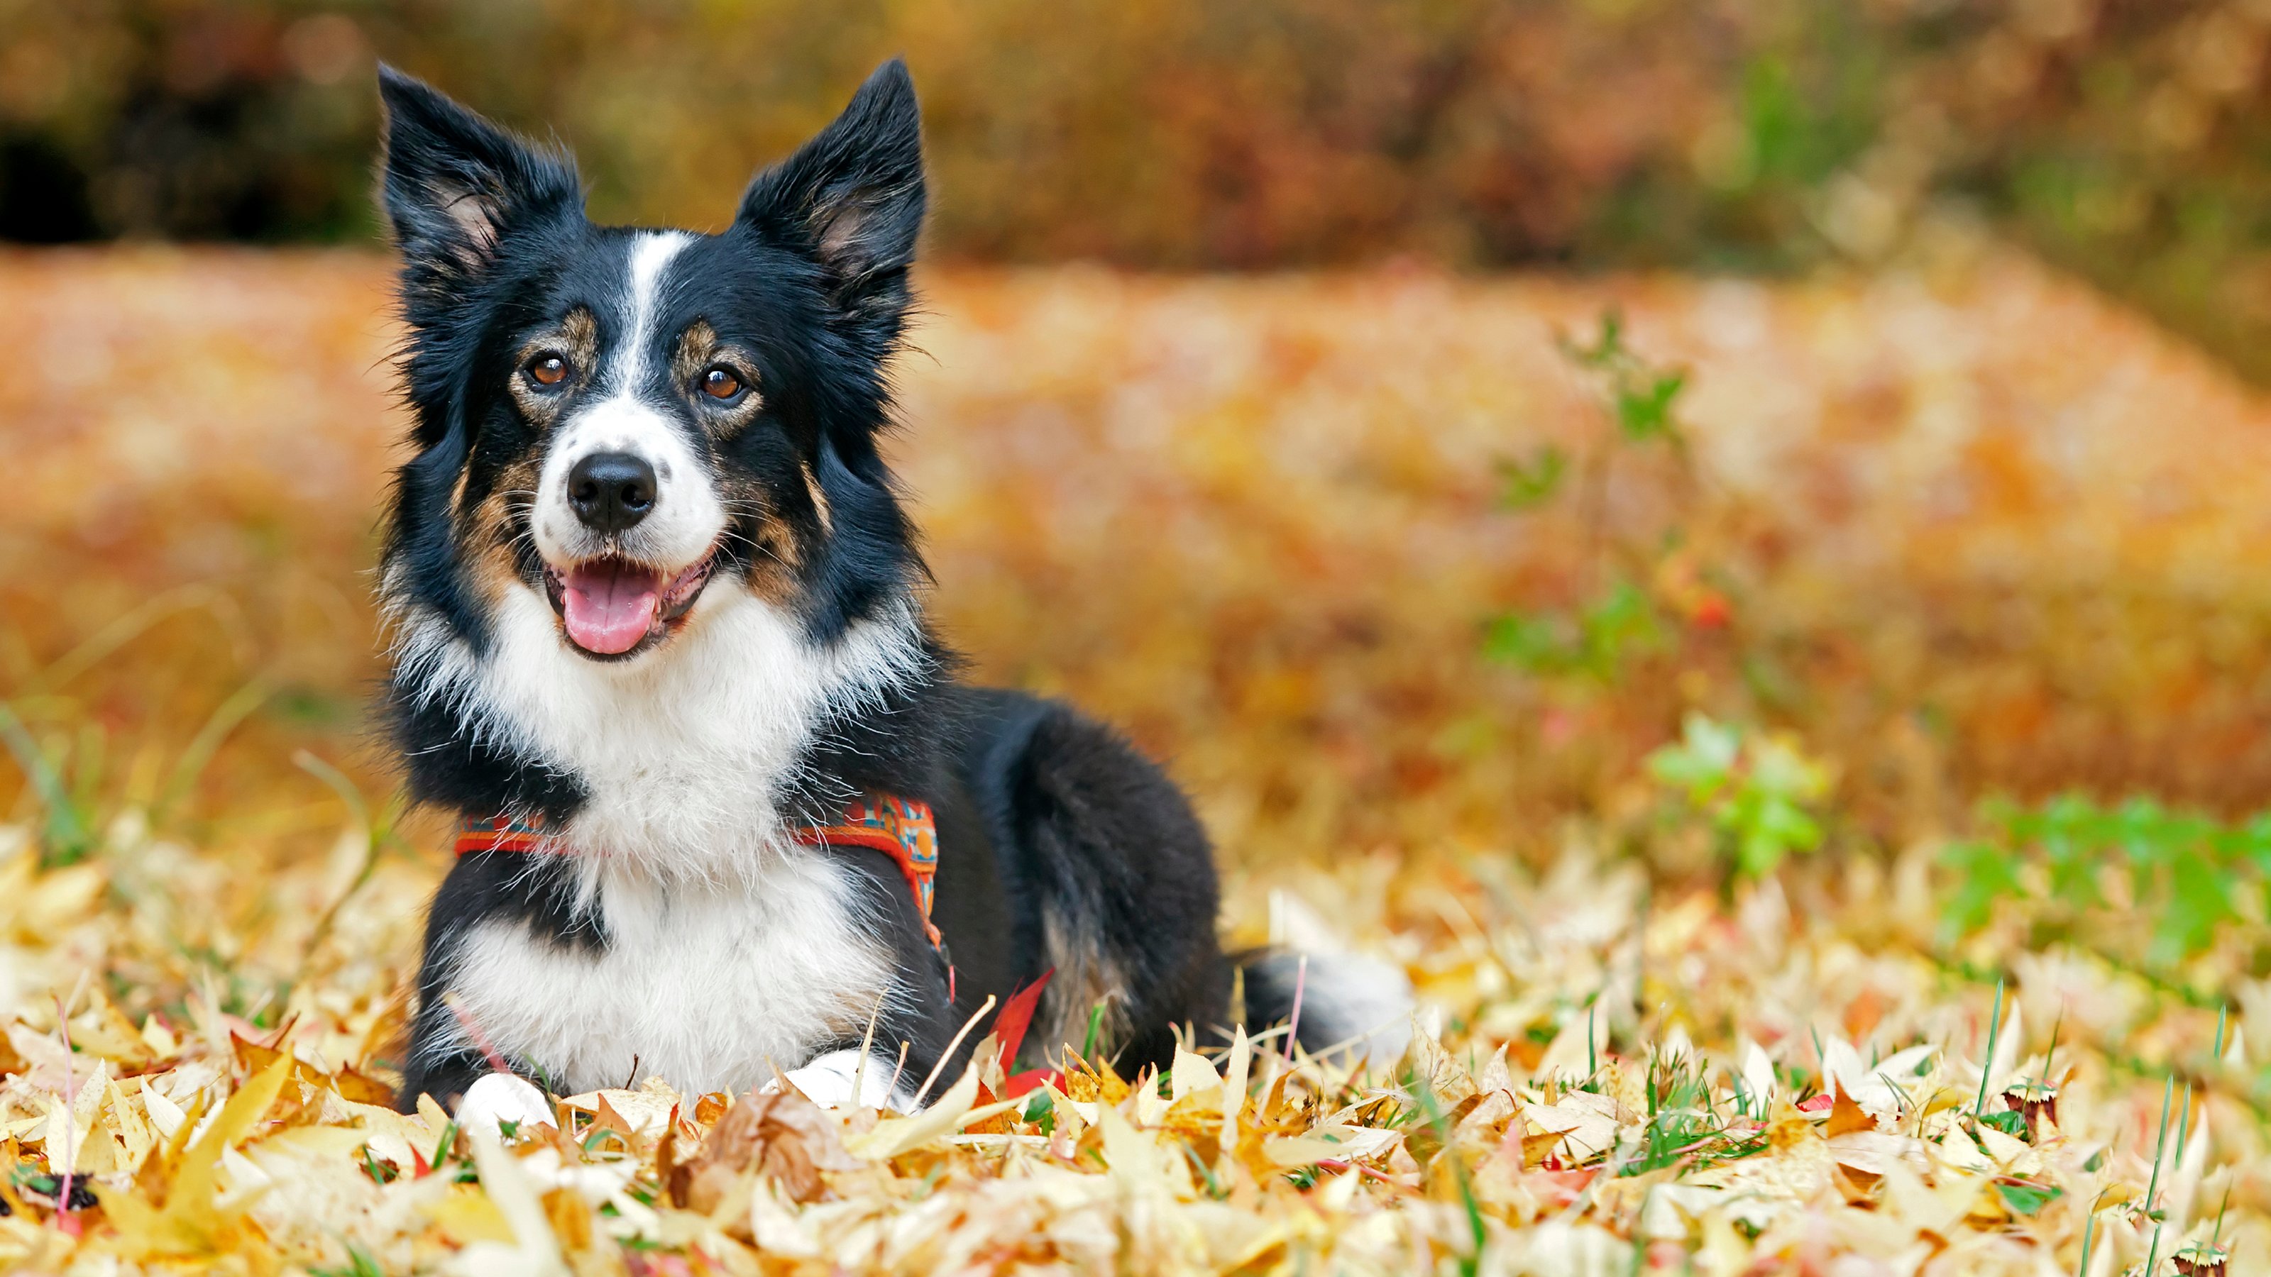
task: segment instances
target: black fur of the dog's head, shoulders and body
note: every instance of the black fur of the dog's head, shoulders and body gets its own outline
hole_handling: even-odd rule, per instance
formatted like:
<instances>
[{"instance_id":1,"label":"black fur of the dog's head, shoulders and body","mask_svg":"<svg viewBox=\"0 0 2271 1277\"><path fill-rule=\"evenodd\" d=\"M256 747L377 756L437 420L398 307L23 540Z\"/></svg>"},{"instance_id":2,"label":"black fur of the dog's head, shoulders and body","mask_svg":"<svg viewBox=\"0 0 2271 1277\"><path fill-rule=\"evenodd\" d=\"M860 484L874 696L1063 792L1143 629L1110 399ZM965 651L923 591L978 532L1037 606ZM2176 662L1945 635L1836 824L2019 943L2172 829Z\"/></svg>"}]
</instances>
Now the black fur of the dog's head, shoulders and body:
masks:
<instances>
[{"instance_id":1,"label":"black fur of the dog's head, shoulders and body","mask_svg":"<svg viewBox=\"0 0 2271 1277\"><path fill-rule=\"evenodd\" d=\"M386 527L384 593L397 614L438 623L475 659L491 659L481 573L534 591L545 573L527 536L529 502L513 495L543 448L540 423L506 391L516 361L529 332L620 277L634 232L584 218L565 155L391 68L379 84L382 191L402 252L411 332L402 368L416 418L416 454L397 473ZM781 554L759 550L768 536L793 545L788 589L815 650L904 607L927 579L877 452L922 214L920 116L906 68L893 61L836 123L749 184L731 227L693 241L674 266L665 327L699 318L752 352L763 386L756 420L702 436L720 482L761 498L752 502L761 509L731 516L709 589L783 570ZM561 393L572 407L581 391ZM861 791L920 798L938 813L945 950L924 941L886 857L833 852L888 918L881 943L897 1000L877 1025L883 1054L908 1043L908 1070L922 1077L988 995L1008 998L1051 970L1029 1059L1079 1045L1097 1000L1122 1070L1165 1061L1179 1025L1217 1027L1231 966L1215 941L1208 841L1183 795L1106 727L1063 704L965 688L936 636L922 636L922 652L920 677L815 725L774 795L806 820ZM584 777L525 754L502 725L463 698L431 695L422 679L407 661L388 695L411 795L481 816L534 811L572 832L590 800ZM572 952L611 943L593 907L575 904L563 859L459 859L429 918L404 1104L420 1093L454 1102L491 1066L481 1050L420 1048L461 1036L447 998L452 954L468 927L500 918ZM983 1025L970 1041L981 1034ZM856 1041L813 1050L833 1045Z\"/></svg>"}]
</instances>

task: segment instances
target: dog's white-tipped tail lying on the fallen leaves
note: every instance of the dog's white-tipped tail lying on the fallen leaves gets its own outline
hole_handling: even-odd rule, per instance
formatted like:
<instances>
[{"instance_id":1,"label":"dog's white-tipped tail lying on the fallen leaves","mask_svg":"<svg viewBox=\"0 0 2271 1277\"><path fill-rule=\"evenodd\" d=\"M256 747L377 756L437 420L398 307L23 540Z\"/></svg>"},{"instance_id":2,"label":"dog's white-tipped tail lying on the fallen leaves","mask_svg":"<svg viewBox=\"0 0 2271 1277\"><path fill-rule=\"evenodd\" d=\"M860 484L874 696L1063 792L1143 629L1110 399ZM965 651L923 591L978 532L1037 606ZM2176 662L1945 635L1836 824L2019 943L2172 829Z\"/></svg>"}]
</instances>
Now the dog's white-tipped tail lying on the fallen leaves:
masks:
<instances>
[{"instance_id":1,"label":"dog's white-tipped tail lying on the fallen leaves","mask_svg":"<svg viewBox=\"0 0 2271 1277\"><path fill-rule=\"evenodd\" d=\"M1403 968L1347 950L1263 948L1235 954L1231 1018L1247 1034L1292 1025L1310 1054L1392 1068L1413 1032L1413 982Z\"/></svg>"}]
</instances>

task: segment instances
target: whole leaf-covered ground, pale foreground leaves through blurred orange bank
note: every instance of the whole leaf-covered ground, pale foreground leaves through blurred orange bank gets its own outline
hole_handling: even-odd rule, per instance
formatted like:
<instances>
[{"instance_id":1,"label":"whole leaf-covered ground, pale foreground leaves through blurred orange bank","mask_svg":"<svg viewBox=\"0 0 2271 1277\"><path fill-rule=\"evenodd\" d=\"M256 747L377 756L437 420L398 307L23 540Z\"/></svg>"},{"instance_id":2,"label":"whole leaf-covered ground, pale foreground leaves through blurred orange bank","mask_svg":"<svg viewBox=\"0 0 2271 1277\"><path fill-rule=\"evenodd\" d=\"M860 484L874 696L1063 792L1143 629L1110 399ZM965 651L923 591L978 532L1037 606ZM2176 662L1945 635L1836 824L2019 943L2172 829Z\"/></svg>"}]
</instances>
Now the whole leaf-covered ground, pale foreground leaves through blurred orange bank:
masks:
<instances>
[{"instance_id":1,"label":"whole leaf-covered ground, pale foreground leaves through blurred orange bank","mask_svg":"<svg viewBox=\"0 0 2271 1277\"><path fill-rule=\"evenodd\" d=\"M2271 1263L2271 407L1980 245L929 293L936 616L1170 759L1233 938L1401 961L1413 1052L391 1113L384 264L5 257L0 1259Z\"/></svg>"}]
</instances>

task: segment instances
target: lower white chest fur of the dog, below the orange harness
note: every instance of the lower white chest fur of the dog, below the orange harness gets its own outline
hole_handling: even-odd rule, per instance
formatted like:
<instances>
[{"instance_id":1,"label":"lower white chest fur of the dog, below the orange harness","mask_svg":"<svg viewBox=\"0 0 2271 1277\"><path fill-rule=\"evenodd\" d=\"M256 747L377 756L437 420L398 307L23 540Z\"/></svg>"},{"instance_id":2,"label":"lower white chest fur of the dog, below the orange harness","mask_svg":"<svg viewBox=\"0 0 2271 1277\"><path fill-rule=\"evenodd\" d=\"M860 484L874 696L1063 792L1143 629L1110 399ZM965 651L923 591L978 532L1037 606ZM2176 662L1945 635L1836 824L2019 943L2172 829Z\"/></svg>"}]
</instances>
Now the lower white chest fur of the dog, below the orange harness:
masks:
<instances>
[{"instance_id":1,"label":"lower white chest fur of the dog, below the orange harness","mask_svg":"<svg viewBox=\"0 0 2271 1277\"><path fill-rule=\"evenodd\" d=\"M468 932L450 979L506 1057L561 1093L661 1075L740 1093L858 1036L890 986L888 950L849 907L847 868L783 857L756 886L602 875L609 943L563 948L518 920Z\"/></svg>"}]
</instances>

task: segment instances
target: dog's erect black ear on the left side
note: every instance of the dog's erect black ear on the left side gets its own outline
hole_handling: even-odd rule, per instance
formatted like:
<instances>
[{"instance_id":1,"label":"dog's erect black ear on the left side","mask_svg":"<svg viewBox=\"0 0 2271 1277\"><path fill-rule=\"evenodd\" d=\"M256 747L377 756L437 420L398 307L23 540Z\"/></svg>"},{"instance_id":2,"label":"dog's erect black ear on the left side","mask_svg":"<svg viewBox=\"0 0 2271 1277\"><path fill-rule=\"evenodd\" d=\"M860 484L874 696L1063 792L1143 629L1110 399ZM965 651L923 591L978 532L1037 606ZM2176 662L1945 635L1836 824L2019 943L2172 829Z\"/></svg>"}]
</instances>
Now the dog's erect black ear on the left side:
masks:
<instances>
[{"instance_id":1,"label":"dog's erect black ear on the left side","mask_svg":"<svg viewBox=\"0 0 2271 1277\"><path fill-rule=\"evenodd\" d=\"M565 155L516 139L386 64L379 98L386 220L411 266L477 275L516 227L581 207Z\"/></svg>"}]
</instances>

